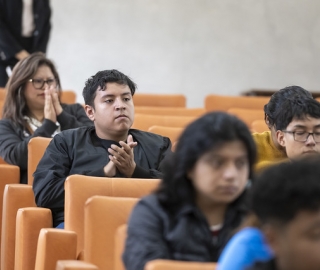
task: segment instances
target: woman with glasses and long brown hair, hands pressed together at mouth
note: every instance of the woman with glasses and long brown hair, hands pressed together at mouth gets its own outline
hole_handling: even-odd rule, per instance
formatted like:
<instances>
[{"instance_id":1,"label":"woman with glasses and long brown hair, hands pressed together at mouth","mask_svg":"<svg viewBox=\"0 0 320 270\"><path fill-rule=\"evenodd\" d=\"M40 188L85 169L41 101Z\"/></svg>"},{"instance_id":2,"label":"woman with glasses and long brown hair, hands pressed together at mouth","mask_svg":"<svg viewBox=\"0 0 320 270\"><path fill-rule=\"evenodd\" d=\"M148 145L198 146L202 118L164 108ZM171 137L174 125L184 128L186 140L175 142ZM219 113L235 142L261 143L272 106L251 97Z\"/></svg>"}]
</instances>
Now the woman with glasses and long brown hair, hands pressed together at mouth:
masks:
<instances>
[{"instance_id":1,"label":"woman with glasses and long brown hair, hands pressed together at mouth","mask_svg":"<svg viewBox=\"0 0 320 270\"><path fill-rule=\"evenodd\" d=\"M0 156L20 167L20 182L27 183L28 142L33 137L92 125L80 104L61 104L60 79L43 53L17 63L6 86L0 121Z\"/></svg>"}]
</instances>

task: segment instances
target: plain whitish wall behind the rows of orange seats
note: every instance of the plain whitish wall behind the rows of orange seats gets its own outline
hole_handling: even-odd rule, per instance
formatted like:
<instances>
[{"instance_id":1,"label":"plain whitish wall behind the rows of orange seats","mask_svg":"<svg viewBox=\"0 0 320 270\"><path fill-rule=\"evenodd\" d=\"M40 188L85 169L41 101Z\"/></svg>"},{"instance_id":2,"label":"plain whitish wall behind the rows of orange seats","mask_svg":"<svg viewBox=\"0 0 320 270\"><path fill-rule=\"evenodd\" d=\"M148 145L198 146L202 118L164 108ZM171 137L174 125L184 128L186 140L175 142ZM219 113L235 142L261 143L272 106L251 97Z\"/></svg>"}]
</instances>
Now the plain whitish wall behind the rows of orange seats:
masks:
<instances>
[{"instance_id":1,"label":"plain whitish wall behind the rows of orange seats","mask_svg":"<svg viewBox=\"0 0 320 270\"><path fill-rule=\"evenodd\" d=\"M48 57L64 89L119 69L141 93L210 93L297 84L320 90L320 1L52 0Z\"/></svg>"}]
</instances>

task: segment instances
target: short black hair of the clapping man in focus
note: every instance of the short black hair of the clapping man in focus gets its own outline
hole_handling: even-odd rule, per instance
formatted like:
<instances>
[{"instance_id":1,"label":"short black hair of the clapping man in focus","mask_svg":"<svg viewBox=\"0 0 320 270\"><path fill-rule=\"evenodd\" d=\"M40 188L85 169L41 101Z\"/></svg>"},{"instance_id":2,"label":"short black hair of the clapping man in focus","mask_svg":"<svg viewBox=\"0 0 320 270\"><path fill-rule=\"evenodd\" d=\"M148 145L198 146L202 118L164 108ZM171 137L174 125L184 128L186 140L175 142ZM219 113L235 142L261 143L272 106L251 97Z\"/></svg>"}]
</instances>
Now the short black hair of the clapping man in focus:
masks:
<instances>
[{"instance_id":1,"label":"short black hair of the clapping man in focus","mask_svg":"<svg viewBox=\"0 0 320 270\"><path fill-rule=\"evenodd\" d=\"M133 96L136 91L136 84L127 76L116 69L99 71L91 76L85 83L82 91L84 103L94 107L94 98L96 92L104 91L107 83L118 83L127 85L130 88L131 95Z\"/></svg>"}]
</instances>

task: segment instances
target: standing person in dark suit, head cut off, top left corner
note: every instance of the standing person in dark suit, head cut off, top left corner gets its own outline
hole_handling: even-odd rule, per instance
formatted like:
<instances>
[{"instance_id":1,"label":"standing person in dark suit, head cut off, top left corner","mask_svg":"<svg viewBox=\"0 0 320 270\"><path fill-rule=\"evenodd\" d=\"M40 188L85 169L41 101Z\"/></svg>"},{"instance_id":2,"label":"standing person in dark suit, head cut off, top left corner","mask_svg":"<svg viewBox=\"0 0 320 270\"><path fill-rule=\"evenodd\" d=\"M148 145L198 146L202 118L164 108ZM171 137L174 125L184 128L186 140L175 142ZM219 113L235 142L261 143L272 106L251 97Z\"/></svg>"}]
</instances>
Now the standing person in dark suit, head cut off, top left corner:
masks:
<instances>
[{"instance_id":1,"label":"standing person in dark suit, head cut off, top left corner","mask_svg":"<svg viewBox=\"0 0 320 270\"><path fill-rule=\"evenodd\" d=\"M0 87L8 80L7 67L46 52L50 17L49 0L0 0Z\"/></svg>"}]
</instances>

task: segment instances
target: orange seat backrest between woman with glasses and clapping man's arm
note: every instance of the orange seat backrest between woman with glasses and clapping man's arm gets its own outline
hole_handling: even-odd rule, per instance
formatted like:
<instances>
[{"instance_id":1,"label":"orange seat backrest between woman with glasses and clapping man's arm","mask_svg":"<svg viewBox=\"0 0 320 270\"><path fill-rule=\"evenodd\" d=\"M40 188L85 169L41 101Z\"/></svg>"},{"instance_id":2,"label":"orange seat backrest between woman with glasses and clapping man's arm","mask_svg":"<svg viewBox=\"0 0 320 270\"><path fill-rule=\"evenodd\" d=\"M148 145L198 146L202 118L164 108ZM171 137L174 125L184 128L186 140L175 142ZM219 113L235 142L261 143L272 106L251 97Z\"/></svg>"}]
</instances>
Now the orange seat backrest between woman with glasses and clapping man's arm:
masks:
<instances>
[{"instance_id":1,"label":"orange seat backrest between woman with glasses and clapping man's arm","mask_svg":"<svg viewBox=\"0 0 320 270\"><path fill-rule=\"evenodd\" d=\"M28 143L28 184L33 184L33 173L52 138L35 137Z\"/></svg>"}]
</instances>

